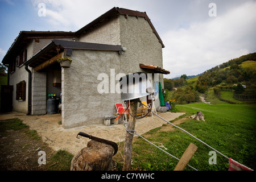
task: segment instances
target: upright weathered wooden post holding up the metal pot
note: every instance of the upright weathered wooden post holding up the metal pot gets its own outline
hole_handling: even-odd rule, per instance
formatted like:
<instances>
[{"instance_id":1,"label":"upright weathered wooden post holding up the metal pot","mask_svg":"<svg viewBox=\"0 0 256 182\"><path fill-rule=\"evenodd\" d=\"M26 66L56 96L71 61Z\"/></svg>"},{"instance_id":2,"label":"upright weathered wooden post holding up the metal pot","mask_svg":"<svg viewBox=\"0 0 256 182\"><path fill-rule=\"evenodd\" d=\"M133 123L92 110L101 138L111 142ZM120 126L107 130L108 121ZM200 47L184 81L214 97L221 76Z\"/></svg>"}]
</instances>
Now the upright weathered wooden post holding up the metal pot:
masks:
<instances>
[{"instance_id":1,"label":"upright weathered wooden post holding up the metal pot","mask_svg":"<svg viewBox=\"0 0 256 182\"><path fill-rule=\"evenodd\" d=\"M137 115L137 100L130 100L130 113L136 117ZM136 118L130 116L129 122L127 123L127 130L134 130ZM133 131L130 131L133 133ZM128 171L131 169L131 152L133 147L133 134L126 132L125 137L125 147L123 148L124 160L123 160L123 171Z\"/></svg>"}]
</instances>

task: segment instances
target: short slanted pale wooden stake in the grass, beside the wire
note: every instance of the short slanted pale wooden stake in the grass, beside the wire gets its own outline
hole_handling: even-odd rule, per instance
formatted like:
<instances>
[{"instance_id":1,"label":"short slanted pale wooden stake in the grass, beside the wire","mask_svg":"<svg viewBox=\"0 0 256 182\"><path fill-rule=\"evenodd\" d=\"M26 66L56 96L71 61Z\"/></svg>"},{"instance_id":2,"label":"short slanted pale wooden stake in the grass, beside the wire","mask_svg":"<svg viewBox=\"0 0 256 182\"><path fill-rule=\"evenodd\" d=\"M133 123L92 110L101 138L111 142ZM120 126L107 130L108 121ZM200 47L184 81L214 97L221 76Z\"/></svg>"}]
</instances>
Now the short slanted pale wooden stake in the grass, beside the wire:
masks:
<instances>
[{"instance_id":1,"label":"short slanted pale wooden stake in the grass, beside the wire","mask_svg":"<svg viewBox=\"0 0 256 182\"><path fill-rule=\"evenodd\" d=\"M197 150L197 146L195 144L190 143L188 148L185 150L184 154L181 156L179 163L177 163L177 166L175 167L174 171L183 171L185 166L187 166L189 160L192 158L192 156L195 154Z\"/></svg>"}]
</instances>

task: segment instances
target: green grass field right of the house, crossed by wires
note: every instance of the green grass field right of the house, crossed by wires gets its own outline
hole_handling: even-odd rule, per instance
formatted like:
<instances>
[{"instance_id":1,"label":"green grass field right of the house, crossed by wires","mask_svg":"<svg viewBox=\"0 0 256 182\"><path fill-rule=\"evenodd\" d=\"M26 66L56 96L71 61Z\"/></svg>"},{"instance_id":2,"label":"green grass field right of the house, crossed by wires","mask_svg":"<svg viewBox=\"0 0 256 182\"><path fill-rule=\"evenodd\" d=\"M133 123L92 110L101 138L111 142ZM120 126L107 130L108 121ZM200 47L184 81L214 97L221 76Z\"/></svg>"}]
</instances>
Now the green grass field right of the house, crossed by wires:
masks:
<instances>
[{"instance_id":1,"label":"green grass field right of the house, crossed by wires","mask_svg":"<svg viewBox=\"0 0 256 182\"><path fill-rule=\"evenodd\" d=\"M244 164L256 168L256 106L204 103L176 105L178 111L187 113L186 117L202 111L205 121L185 118L179 127L195 137L203 140L222 154ZM170 125L170 124L167 124ZM164 127L164 126L163 126ZM162 143L167 152L181 158L189 143L194 143L198 149L189 162L192 167L201 171L226 171L228 159L217 154L217 164L209 164L209 147L192 138L188 134L175 131L161 131L158 127L143 136L151 142ZM160 144L158 144L159 146ZM122 148L119 148L121 150ZM133 169L141 170L174 170L178 161L160 151L142 138L133 144ZM185 167L184 170L193 170Z\"/></svg>"}]
</instances>

